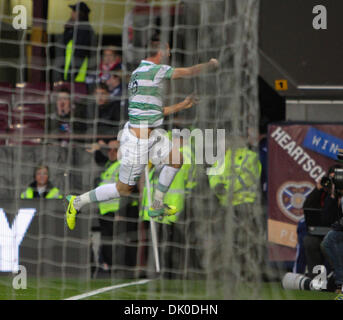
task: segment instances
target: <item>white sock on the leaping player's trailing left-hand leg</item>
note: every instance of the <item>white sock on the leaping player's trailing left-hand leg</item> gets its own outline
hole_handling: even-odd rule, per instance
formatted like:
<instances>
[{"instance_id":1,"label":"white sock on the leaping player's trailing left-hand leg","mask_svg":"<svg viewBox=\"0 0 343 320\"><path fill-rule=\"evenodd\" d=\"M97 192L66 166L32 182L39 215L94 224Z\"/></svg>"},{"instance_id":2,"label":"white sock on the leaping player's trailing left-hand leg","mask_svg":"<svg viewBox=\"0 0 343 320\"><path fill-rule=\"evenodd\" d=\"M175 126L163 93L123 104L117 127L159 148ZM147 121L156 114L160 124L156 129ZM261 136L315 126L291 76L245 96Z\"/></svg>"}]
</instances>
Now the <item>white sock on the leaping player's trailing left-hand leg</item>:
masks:
<instances>
[{"instance_id":1,"label":"white sock on the leaping player's trailing left-hand leg","mask_svg":"<svg viewBox=\"0 0 343 320\"><path fill-rule=\"evenodd\" d=\"M86 204L107 201L119 197L120 194L115 183L104 184L76 197L74 200L74 207L76 210L81 210L81 208Z\"/></svg>"}]
</instances>

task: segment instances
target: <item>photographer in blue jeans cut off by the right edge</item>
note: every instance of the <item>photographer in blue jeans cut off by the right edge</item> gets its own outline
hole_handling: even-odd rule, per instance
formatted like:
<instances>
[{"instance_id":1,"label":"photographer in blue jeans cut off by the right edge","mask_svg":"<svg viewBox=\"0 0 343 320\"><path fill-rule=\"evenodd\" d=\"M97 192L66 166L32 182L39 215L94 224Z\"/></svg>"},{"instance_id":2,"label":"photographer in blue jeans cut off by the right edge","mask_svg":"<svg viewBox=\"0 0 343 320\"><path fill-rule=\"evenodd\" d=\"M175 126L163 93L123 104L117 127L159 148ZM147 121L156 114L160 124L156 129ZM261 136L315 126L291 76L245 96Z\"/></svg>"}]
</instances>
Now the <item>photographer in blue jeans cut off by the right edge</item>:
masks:
<instances>
[{"instance_id":1,"label":"photographer in blue jeans cut off by the right edge","mask_svg":"<svg viewBox=\"0 0 343 320\"><path fill-rule=\"evenodd\" d=\"M338 150L338 159L343 161L343 150ZM337 292L342 293L343 285L343 213L342 213L342 198L343 198L343 169L335 171L335 179L333 183L333 189L336 188L337 211L338 217L332 224L332 230L330 230L321 243L321 249L325 257L327 257L330 265L335 272L335 284L337 286ZM332 194L331 194L332 197ZM336 209L336 208L335 208Z\"/></svg>"}]
</instances>

